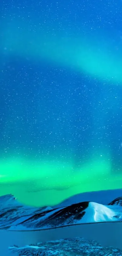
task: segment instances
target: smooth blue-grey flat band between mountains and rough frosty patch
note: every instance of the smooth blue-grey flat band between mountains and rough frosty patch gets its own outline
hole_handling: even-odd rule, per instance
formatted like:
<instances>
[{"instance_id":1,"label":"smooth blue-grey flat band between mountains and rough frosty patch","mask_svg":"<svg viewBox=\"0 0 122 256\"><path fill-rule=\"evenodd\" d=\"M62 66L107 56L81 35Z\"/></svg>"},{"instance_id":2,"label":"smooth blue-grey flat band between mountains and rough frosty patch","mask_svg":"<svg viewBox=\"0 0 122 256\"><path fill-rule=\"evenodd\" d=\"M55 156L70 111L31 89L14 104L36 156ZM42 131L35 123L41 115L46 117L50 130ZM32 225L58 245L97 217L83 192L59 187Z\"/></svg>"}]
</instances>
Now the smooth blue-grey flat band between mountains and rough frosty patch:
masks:
<instances>
[{"instance_id":1,"label":"smooth blue-grey flat band between mountains and rough frosty patch","mask_svg":"<svg viewBox=\"0 0 122 256\"><path fill-rule=\"evenodd\" d=\"M122 222L84 223L54 229L35 231L0 230L0 255L10 256L9 246L23 247L49 240L83 237L96 240L103 247L122 250ZM16 256L17 254L15 254Z\"/></svg>"}]
</instances>

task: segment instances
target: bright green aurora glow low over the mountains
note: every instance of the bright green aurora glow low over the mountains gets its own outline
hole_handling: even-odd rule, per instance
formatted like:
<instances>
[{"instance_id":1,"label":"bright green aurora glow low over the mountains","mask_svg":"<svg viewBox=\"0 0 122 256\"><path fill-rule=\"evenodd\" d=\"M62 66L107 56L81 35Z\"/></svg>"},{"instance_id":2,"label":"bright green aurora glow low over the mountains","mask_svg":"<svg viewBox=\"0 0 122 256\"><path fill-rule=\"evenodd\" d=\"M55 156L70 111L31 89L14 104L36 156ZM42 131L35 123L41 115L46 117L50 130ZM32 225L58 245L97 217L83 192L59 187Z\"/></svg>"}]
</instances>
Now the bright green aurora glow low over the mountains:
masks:
<instances>
[{"instance_id":1,"label":"bright green aurora glow low over the mountains","mask_svg":"<svg viewBox=\"0 0 122 256\"><path fill-rule=\"evenodd\" d=\"M111 174L110 161L94 159L78 171L66 162L20 158L0 163L0 196L14 194L24 204L54 205L81 192L121 188L122 174Z\"/></svg>"}]
</instances>

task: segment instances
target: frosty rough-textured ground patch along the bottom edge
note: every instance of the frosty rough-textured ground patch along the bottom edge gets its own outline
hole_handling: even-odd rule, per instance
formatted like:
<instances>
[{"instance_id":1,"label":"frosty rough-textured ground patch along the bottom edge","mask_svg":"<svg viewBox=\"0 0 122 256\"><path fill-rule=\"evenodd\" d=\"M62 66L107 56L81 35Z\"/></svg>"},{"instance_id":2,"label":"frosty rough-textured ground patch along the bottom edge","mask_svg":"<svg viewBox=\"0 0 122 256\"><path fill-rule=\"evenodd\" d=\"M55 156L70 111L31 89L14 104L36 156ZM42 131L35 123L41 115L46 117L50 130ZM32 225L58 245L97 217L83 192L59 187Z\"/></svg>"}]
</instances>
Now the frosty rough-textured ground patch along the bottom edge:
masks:
<instances>
[{"instance_id":1,"label":"frosty rough-textured ground patch along the bottom edge","mask_svg":"<svg viewBox=\"0 0 122 256\"><path fill-rule=\"evenodd\" d=\"M111 247L104 248L99 243L82 238L64 239L55 242L38 243L25 247L9 247L9 251L19 256L122 256L122 251Z\"/></svg>"}]
</instances>

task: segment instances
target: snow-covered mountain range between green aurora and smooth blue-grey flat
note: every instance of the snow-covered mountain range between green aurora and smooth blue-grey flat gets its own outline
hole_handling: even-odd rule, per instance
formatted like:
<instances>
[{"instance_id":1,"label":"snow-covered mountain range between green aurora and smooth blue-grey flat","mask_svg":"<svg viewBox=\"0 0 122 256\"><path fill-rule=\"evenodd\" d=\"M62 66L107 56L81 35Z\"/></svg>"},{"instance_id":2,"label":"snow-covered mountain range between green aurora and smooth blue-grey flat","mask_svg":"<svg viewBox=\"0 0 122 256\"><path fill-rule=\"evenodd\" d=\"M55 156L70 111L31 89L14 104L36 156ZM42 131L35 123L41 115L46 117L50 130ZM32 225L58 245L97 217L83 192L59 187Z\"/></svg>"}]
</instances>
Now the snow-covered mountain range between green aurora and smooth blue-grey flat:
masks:
<instances>
[{"instance_id":1,"label":"snow-covered mountain range between green aurora and smooth blue-grey flat","mask_svg":"<svg viewBox=\"0 0 122 256\"><path fill-rule=\"evenodd\" d=\"M82 223L94 222L118 222L122 221L122 189L106 191L108 197L113 199L108 205L98 203L104 201L103 192L94 192L96 201L82 201L83 198L92 198L90 193L76 195L81 201L74 203L74 197L67 201L71 204L63 206L63 203L55 207L28 207L22 205L12 195L0 197L0 228L8 230L40 230L52 229L69 225L78 225ZM114 194L119 198L115 199Z\"/></svg>"}]
</instances>

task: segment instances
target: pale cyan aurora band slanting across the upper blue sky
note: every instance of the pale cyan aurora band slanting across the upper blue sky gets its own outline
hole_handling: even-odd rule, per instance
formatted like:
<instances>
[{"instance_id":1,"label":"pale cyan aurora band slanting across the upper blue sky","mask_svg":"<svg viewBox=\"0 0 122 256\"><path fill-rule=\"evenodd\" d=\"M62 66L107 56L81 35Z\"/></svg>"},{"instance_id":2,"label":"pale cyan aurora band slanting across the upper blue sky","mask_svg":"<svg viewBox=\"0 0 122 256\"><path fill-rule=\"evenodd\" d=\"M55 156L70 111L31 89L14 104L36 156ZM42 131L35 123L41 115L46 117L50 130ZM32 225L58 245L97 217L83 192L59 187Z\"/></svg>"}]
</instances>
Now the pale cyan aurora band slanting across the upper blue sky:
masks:
<instances>
[{"instance_id":1,"label":"pale cyan aurora band slanting across the upper blue sky","mask_svg":"<svg viewBox=\"0 0 122 256\"><path fill-rule=\"evenodd\" d=\"M45 32L46 31L46 32ZM5 28L2 44L8 56L20 56L26 59L44 59L62 67L73 68L93 78L112 83L122 82L122 49L115 43L113 34L108 37L105 31L85 31L81 35L68 37L67 33L57 29L36 26L36 30L27 23L11 21ZM116 63L116 65L115 65Z\"/></svg>"}]
</instances>

